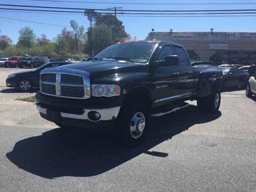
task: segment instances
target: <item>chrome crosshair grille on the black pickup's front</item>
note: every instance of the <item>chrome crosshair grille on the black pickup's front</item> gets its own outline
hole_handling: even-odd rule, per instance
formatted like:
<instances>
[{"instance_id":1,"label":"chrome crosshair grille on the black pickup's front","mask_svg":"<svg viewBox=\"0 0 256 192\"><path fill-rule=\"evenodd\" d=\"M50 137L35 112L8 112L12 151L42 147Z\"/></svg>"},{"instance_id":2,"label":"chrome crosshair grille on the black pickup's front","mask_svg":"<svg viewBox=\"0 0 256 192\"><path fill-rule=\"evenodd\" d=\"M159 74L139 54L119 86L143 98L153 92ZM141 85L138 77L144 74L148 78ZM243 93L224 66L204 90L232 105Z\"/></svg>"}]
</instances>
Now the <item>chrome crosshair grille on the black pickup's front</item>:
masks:
<instances>
[{"instance_id":1,"label":"chrome crosshair grille on the black pickup's front","mask_svg":"<svg viewBox=\"0 0 256 192\"><path fill-rule=\"evenodd\" d=\"M41 92L55 97L87 99L91 96L89 77L73 74L41 74Z\"/></svg>"}]
</instances>

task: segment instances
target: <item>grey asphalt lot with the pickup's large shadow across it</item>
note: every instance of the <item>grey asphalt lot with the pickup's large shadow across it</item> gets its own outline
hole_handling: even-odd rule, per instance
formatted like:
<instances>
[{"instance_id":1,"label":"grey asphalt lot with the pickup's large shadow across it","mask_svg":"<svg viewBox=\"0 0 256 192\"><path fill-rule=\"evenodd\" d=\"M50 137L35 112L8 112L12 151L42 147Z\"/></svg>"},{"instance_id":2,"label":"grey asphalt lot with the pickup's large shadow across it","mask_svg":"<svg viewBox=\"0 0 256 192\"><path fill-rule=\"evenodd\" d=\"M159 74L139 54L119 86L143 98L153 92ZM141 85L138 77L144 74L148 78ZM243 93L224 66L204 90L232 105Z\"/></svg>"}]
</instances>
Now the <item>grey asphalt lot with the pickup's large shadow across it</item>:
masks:
<instances>
[{"instance_id":1,"label":"grey asphalt lot with the pickup's large shadow across it","mask_svg":"<svg viewBox=\"0 0 256 192\"><path fill-rule=\"evenodd\" d=\"M256 191L256 97L225 91L220 111L196 102L151 120L124 148L111 129L63 131L5 87L0 68L0 191Z\"/></svg>"}]
</instances>

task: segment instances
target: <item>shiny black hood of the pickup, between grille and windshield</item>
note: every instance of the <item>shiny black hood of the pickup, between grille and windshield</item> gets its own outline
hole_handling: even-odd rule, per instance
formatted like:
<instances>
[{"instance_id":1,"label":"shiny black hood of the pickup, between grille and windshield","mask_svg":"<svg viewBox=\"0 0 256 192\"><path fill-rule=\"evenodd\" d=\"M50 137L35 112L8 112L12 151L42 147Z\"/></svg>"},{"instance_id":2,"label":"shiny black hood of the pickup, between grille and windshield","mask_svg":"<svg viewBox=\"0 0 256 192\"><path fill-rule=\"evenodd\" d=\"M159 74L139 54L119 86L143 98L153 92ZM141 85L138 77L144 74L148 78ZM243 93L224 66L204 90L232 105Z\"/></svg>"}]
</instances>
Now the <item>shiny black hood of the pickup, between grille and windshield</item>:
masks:
<instances>
[{"instance_id":1,"label":"shiny black hood of the pickup, between grille and windshield","mask_svg":"<svg viewBox=\"0 0 256 192\"><path fill-rule=\"evenodd\" d=\"M123 73L139 73L145 65L121 61L89 61L84 63L61 66L61 69L86 71L93 78Z\"/></svg>"}]
</instances>

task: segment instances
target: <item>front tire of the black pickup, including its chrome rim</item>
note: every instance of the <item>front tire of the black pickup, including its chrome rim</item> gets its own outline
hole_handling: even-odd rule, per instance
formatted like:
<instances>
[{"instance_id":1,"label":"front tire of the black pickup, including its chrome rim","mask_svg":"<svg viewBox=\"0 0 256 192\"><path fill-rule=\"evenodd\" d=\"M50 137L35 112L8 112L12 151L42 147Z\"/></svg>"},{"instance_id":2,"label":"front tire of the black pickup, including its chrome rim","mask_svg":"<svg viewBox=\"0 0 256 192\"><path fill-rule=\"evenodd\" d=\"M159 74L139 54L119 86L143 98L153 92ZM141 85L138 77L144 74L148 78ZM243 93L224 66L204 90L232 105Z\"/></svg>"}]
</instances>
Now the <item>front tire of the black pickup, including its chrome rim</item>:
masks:
<instances>
[{"instance_id":1,"label":"front tire of the black pickup, including its chrome rim","mask_svg":"<svg viewBox=\"0 0 256 192\"><path fill-rule=\"evenodd\" d=\"M135 147L145 139L149 125L149 111L141 103L125 105L118 116L117 129L120 130L125 146Z\"/></svg>"}]
</instances>

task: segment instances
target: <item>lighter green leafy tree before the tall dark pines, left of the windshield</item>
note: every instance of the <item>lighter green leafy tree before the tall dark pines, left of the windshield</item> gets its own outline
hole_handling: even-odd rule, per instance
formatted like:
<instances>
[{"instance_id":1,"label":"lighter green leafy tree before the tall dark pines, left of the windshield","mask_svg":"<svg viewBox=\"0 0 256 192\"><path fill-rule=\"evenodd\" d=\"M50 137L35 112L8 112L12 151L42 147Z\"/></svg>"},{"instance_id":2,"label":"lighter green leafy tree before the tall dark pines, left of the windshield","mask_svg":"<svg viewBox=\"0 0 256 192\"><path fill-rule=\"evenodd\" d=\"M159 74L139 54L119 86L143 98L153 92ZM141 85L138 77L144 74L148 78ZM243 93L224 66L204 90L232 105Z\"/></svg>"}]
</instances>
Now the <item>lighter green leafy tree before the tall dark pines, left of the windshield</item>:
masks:
<instances>
[{"instance_id":1,"label":"lighter green leafy tree before the tall dark pines, left of the windshield","mask_svg":"<svg viewBox=\"0 0 256 192\"><path fill-rule=\"evenodd\" d=\"M94 26L92 30L93 54L96 54L112 44L111 29L104 25Z\"/></svg>"}]
</instances>

